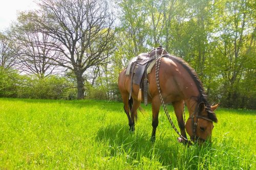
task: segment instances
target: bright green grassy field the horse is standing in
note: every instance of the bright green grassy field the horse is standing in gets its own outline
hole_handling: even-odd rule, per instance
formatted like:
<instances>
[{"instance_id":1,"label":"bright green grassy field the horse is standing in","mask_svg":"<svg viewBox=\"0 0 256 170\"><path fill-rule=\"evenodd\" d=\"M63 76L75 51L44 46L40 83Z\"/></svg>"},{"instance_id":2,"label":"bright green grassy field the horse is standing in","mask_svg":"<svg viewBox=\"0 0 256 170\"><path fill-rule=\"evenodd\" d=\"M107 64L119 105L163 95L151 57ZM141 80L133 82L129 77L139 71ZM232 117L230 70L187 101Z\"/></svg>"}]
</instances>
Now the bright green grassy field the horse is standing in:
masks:
<instances>
[{"instance_id":1,"label":"bright green grassy field the horse is standing in","mask_svg":"<svg viewBox=\"0 0 256 170\"><path fill-rule=\"evenodd\" d=\"M255 111L218 109L212 145L187 148L162 110L152 144L144 108L130 133L122 103L0 99L0 169L256 169Z\"/></svg>"}]
</instances>

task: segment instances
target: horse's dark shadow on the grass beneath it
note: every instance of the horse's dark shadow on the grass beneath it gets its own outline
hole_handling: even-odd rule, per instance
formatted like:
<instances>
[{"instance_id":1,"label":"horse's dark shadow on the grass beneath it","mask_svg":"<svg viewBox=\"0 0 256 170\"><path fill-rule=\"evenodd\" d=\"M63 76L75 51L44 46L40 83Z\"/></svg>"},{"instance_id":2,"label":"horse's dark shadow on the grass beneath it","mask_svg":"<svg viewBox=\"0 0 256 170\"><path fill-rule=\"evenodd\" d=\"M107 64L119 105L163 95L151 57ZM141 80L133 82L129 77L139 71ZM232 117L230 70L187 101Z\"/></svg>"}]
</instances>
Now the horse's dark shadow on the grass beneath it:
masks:
<instances>
[{"instance_id":1,"label":"horse's dark shadow on the grass beneath it","mask_svg":"<svg viewBox=\"0 0 256 170\"><path fill-rule=\"evenodd\" d=\"M157 162L167 169L207 169L218 148L206 143L186 147L177 142L177 136L157 135L156 142L150 140L148 131L136 129L131 133L128 125L111 124L97 131L96 142L103 142L111 157L124 155L125 162L138 167L143 160ZM126 159L125 155L132 157ZM145 158L145 159L144 159ZM136 162L136 163L134 163Z\"/></svg>"}]
</instances>

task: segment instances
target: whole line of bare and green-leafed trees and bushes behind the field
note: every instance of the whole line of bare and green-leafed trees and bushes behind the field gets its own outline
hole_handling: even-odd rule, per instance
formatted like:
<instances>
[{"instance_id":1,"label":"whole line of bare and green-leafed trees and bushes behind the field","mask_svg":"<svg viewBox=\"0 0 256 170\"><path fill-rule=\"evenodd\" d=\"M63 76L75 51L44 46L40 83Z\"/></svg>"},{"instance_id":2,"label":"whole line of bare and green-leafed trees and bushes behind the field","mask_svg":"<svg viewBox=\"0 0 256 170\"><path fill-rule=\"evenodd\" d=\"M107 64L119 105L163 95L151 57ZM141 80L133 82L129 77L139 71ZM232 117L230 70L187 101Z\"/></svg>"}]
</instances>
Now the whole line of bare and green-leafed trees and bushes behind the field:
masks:
<instances>
[{"instance_id":1,"label":"whole line of bare and green-leafed trees and bushes behind the field","mask_svg":"<svg viewBox=\"0 0 256 170\"><path fill-rule=\"evenodd\" d=\"M256 3L41 0L0 33L0 96L119 100L127 62L163 45L197 71L212 103L256 101Z\"/></svg>"}]
</instances>

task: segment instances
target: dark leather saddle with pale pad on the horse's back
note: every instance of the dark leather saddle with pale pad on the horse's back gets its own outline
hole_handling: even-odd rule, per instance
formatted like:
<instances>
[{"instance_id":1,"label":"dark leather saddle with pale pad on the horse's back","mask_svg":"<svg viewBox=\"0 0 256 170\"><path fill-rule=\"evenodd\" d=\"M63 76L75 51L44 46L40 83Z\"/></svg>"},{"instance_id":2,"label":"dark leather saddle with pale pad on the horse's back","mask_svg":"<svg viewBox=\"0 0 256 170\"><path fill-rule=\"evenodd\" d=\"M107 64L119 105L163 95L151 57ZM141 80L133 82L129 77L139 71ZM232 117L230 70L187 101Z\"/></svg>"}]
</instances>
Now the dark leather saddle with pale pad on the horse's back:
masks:
<instances>
[{"instance_id":1,"label":"dark leather saddle with pale pad on the horse's back","mask_svg":"<svg viewBox=\"0 0 256 170\"><path fill-rule=\"evenodd\" d=\"M141 89L144 93L144 104L147 106L147 95L151 96L149 93L149 82L147 80L147 74L149 74L156 63L156 52L157 55L161 55L162 47L159 46L155 48L150 53L142 53L137 57L134 57L126 67L125 75L129 76L131 74L131 90L129 95L129 100L131 99L133 83L140 86L138 101L141 101Z\"/></svg>"}]
</instances>

